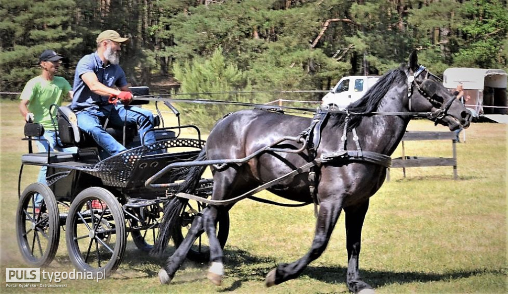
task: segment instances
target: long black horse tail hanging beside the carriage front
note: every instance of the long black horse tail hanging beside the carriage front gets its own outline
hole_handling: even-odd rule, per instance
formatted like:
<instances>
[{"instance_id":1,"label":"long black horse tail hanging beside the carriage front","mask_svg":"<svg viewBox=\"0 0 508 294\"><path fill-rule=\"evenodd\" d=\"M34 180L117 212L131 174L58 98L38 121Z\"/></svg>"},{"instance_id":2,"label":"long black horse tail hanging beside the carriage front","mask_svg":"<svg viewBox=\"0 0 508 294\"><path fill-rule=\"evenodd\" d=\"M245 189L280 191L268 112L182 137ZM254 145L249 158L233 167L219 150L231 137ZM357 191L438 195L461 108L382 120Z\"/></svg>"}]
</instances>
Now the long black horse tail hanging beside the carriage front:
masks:
<instances>
[{"instance_id":1,"label":"long black horse tail hanging beside the carriage front","mask_svg":"<svg viewBox=\"0 0 508 294\"><path fill-rule=\"evenodd\" d=\"M201 153L196 158L196 161L206 160L206 149L203 148ZM189 169L187 175L185 176L184 181L177 189L177 193L192 193L198 187L199 180L201 175L205 171L206 166L193 166ZM175 224L177 224L178 217L180 212L187 204L187 199L174 197L168 203L166 203L164 207L164 215L159 225L159 232L157 235L157 239L153 244L153 248L150 251L151 255L160 255L166 250L168 246L169 238L171 237L171 232L173 232L173 228Z\"/></svg>"}]
</instances>

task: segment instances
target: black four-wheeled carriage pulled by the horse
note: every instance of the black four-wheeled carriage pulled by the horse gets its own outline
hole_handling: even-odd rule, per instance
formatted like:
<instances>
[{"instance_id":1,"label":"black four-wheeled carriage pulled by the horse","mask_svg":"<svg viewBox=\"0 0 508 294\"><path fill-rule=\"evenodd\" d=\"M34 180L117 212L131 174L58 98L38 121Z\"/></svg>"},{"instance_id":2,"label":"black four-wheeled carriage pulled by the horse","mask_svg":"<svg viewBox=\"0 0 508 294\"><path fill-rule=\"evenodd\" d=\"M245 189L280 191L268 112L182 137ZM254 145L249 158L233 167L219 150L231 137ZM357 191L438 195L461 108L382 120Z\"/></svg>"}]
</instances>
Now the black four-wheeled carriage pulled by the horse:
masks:
<instances>
[{"instance_id":1,"label":"black four-wheeled carriage pulled by the horse","mask_svg":"<svg viewBox=\"0 0 508 294\"><path fill-rule=\"evenodd\" d=\"M148 94L147 87L131 91ZM162 116L155 116L156 142L151 145L143 143L135 126L126 125L123 130L107 128L113 137L132 148L103 160L96 142L80 131L67 106L57 107L54 127L61 147L76 146L76 153L33 152L33 143L44 129L39 124L25 125L23 140L28 143L28 153L21 157L16 228L21 254L29 265L51 263L63 232L70 260L81 271L101 272L105 276L113 273L122 261L129 235L137 248L150 251L163 205L185 175L185 168L173 170L149 186L145 181L170 163L194 160L205 143L196 126L180 125L177 109L168 102L165 105L178 117L177 126L164 127ZM160 113L157 102L156 109ZM183 130L195 135L184 138ZM34 182L21 191L23 168L28 165L46 167L47 184ZM194 193L206 198L211 188L212 180L203 179ZM189 201L179 211L180 225L171 234L176 245L182 242L194 217L205 205ZM220 220L219 226L218 237L224 246L229 215ZM207 250L206 240L200 239L188 257L206 260Z\"/></svg>"}]
</instances>

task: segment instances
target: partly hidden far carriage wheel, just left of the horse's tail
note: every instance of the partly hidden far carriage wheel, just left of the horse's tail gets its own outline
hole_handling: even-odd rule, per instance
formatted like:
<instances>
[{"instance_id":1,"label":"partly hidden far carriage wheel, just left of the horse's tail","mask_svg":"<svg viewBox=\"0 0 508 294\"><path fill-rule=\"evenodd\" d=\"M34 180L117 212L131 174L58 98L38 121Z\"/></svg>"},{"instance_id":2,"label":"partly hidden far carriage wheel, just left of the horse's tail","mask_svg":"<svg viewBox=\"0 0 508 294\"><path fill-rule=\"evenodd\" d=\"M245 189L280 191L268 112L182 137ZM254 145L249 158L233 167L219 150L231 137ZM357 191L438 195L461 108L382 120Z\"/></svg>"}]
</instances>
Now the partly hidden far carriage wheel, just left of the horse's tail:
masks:
<instances>
[{"instance_id":1,"label":"partly hidden far carriage wheel, just left of the horse's tail","mask_svg":"<svg viewBox=\"0 0 508 294\"><path fill-rule=\"evenodd\" d=\"M131 235L136 247L142 251L149 252L153 248L153 244L157 238L158 222L161 218L158 217L158 215L161 211L161 206L160 204L154 204L147 207L142 207L141 209L144 209L144 213L147 215L145 218L146 225L153 226L153 228L131 231ZM132 219L130 224L131 228L135 228L139 225L139 222L138 220Z\"/></svg>"}]
</instances>

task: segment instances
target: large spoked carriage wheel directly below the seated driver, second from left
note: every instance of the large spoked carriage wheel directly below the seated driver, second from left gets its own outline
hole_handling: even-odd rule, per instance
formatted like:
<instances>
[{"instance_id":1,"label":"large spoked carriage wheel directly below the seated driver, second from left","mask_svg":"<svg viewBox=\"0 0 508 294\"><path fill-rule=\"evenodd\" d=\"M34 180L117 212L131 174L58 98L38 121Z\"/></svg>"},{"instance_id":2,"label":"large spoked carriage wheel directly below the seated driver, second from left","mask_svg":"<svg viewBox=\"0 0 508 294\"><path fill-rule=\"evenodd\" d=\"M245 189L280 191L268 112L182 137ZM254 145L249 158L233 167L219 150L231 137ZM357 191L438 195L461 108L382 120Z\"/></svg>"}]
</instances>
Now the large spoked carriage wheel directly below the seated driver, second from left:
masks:
<instances>
[{"instance_id":1,"label":"large spoked carriage wheel directly below the seated driver, second from left","mask_svg":"<svg viewBox=\"0 0 508 294\"><path fill-rule=\"evenodd\" d=\"M76 196L67 216L66 242L77 269L104 276L116 271L125 252L126 231L123 211L111 192L92 187Z\"/></svg>"}]
</instances>

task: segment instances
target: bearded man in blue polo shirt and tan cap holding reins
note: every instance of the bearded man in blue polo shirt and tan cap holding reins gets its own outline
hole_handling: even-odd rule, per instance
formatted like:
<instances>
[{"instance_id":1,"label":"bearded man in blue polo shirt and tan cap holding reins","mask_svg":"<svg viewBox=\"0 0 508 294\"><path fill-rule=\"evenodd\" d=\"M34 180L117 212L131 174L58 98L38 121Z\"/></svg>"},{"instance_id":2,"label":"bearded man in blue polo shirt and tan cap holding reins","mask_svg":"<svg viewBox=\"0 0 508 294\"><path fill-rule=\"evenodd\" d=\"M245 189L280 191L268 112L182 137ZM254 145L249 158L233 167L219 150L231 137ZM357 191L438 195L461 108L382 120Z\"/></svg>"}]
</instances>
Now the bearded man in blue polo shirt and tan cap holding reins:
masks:
<instances>
[{"instance_id":1,"label":"bearded man in blue polo shirt and tan cap holding reins","mask_svg":"<svg viewBox=\"0 0 508 294\"><path fill-rule=\"evenodd\" d=\"M148 131L153 128L152 113L140 107L128 106L133 96L125 73L118 65L120 46L128 40L121 38L114 30L101 32L96 40L97 51L79 60L74 76L71 108L76 112L80 129L96 140L107 153L106 156L126 150L102 127L101 123L106 118L114 127L121 128L125 122L136 124L145 144L155 142L153 131ZM122 105L117 105L117 100L121 100Z\"/></svg>"}]
</instances>

